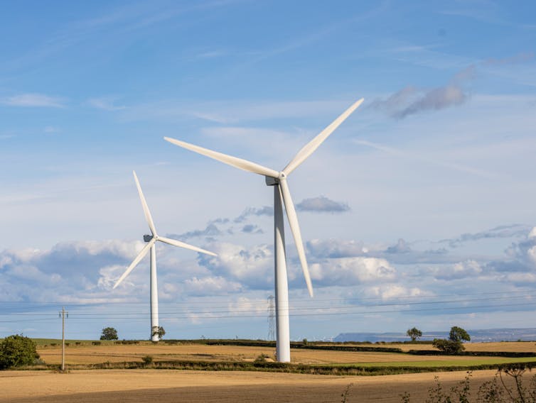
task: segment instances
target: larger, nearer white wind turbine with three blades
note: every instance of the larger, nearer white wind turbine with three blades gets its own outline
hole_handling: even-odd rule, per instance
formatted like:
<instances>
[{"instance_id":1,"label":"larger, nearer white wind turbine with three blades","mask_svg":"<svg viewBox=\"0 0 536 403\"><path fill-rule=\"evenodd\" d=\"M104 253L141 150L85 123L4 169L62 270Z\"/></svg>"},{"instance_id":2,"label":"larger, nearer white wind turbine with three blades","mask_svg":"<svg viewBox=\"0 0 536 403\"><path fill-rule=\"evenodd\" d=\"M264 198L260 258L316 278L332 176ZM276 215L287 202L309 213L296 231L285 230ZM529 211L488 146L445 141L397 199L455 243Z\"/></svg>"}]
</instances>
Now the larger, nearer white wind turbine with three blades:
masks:
<instances>
[{"instance_id":1,"label":"larger, nearer white wind turbine with three blades","mask_svg":"<svg viewBox=\"0 0 536 403\"><path fill-rule=\"evenodd\" d=\"M289 285L286 278L286 255L285 255L285 242L284 242L284 223L283 223L283 208L282 199L284 202L286 217L289 219L289 226L294 236L294 243L298 250L299 260L301 262L301 268L304 271L305 282L309 294L313 297L313 287L311 285L311 277L309 276L309 269L307 267L307 260L305 257L304 244L301 241L301 233L299 229L298 218L296 216L296 209L294 209L294 203L289 191L289 184L286 182L286 177L294 171L301 162L304 162L309 155L314 153L321 143L323 143L333 131L338 128L343 121L345 121L355 109L360 106L363 99L355 102L346 111L336 118L333 123L326 127L320 134L318 134L313 140L307 143L304 148L301 148L296 156L289 162L282 171L272 170L262 165L242 160L241 158L232 157L223 153L218 153L207 148L199 147L185 143L181 140L174 138L164 137L165 140L178 145L179 147L186 148L205 155L214 160L224 162L232 167L237 167L241 170L253 172L258 175L263 175L266 180L267 186L274 187L274 258L275 258L275 294L276 294L276 327L277 327L277 360L279 362L287 363L290 361L290 330L289 330Z\"/></svg>"}]
</instances>

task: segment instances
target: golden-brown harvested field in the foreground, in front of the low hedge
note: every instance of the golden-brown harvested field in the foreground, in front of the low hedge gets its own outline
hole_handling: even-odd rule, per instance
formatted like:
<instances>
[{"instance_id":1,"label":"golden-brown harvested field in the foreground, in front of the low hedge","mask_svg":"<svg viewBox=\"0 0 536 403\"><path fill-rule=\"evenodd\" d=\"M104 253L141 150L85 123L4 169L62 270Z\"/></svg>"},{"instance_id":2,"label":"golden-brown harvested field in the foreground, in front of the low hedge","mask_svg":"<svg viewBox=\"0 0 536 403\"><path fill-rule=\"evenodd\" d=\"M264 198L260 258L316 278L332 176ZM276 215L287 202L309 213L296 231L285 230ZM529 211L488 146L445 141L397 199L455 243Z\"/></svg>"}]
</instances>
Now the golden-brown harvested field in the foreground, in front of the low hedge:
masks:
<instances>
[{"instance_id":1,"label":"golden-brown harvested field in the foreground, in front of the low hedge","mask_svg":"<svg viewBox=\"0 0 536 403\"><path fill-rule=\"evenodd\" d=\"M376 377L301 375L269 372L173 370L1 371L0 402L341 402L351 383L348 403L424 402L439 376L444 390L466 372L440 372ZM473 396L494 370L475 371Z\"/></svg>"}]
</instances>

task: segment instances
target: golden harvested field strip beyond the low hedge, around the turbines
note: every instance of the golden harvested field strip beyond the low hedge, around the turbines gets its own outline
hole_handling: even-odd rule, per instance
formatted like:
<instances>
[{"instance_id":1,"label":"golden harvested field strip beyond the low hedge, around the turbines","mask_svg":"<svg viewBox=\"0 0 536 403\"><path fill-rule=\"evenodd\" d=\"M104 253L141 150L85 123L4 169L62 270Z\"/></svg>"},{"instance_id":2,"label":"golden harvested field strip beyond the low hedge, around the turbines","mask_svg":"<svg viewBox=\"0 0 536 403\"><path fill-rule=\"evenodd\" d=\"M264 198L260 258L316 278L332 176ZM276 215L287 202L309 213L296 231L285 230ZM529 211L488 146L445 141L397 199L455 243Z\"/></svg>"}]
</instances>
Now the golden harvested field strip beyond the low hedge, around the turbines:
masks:
<instances>
[{"instance_id":1,"label":"golden harvested field strip beyond the low hedge, around the turbines","mask_svg":"<svg viewBox=\"0 0 536 403\"><path fill-rule=\"evenodd\" d=\"M93 346L89 342L78 341L78 346L66 348L67 365L85 365L100 363L124 363L142 362L142 358L150 355L154 362L161 361L205 361L205 362L251 362L259 355L264 354L269 358L274 357L274 348L252 346L208 346L205 344L175 344L164 343L152 344L141 342L139 344L114 344L103 343ZM60 346L50 346L50 343L41 344L38 353L48 364L61 362ZM392 344L378 347L404 347L409 350L413 346L432 349L430 345ZM535 343L468 343L469 351L510 351L510 352L534 352ZM505 358L505 357L474 357L474 356L451 356L451 355L408 355L401 353L384 353L373 351L332 351L311 350L307 348L291 349L292 363L304 365L360 365L360 366L413 366L413 367L442 367L442 366L476 366L494 365L503 363L536 362L533 358Z\"/></svg>"}]
</instances>

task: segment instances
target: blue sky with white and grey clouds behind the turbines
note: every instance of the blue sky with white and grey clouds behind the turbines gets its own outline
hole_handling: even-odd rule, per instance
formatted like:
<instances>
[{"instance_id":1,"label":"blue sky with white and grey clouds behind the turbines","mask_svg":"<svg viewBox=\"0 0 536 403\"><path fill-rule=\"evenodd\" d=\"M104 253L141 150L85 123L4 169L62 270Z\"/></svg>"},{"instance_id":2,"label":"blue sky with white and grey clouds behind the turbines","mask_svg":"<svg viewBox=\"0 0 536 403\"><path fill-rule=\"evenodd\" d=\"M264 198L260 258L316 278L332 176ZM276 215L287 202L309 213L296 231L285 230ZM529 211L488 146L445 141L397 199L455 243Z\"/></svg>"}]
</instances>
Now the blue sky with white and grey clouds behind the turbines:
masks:
<instances>
[{"instance_id":1,"label":"blue sky with white and grey clouds behind the turbines","mask_svg":"<svg viewBox=\"0 0 536 403\"><path fill-rule=\"evenodd\" d=\"M533 1L6 1L0 336L267 338L273 194L178 138L289 176L291 338L536 327ZM531 320L535 319L535 320Z\"/></svg>"}]
</instances>

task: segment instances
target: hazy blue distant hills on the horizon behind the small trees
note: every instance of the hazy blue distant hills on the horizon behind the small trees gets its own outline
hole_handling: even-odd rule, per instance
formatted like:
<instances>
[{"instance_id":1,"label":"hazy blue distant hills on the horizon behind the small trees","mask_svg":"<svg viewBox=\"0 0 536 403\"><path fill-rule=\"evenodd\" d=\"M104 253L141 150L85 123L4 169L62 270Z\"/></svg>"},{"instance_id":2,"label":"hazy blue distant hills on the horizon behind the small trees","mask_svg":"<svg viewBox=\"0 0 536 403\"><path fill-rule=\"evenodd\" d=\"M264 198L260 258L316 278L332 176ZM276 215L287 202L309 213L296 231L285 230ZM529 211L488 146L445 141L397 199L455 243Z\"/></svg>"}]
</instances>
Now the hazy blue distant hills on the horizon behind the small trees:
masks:
<instances>
[{"instance_id":1,"label":"hazy blue distant hills on the horizon behind the small trees","mask_svg":"<svg viewBox=\"0 0 536 403\"><path fill-rule=\"evenodd\" d=\"M471 341L536 341L536 329L467 330ZM449 338L449 331L423 331L420 340ZM333 341L408 341L406 333L341 333Z\"/></svg>"}]
</instances>

